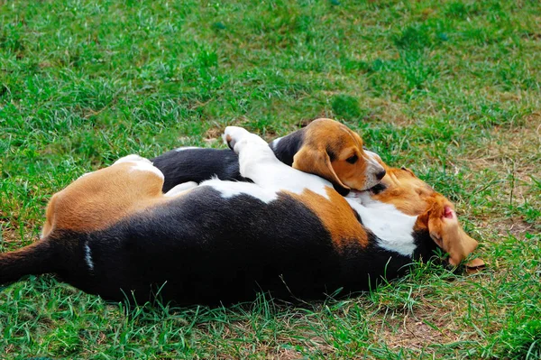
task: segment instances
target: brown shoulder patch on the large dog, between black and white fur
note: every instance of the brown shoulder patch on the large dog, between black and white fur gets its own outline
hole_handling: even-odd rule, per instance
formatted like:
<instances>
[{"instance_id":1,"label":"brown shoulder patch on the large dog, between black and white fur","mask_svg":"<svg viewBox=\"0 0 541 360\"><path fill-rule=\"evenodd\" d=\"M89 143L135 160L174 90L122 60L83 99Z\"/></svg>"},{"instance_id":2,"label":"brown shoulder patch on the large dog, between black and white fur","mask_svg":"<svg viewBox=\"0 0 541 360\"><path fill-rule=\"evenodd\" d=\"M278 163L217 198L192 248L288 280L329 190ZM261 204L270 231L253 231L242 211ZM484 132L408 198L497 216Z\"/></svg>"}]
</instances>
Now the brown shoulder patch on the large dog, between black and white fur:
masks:
<instances>
[{"instance_id":1,"label":"brown shoulder patch on the large dog, between black and white fur","mask_svg":"<svg viewBox=\"0 0 541 360\"><path fill-rule=\"evenodd\" d=\"M316 213L323 226L331 234L336 249L340 250L344 245L352 242L362 247L368 245L366 231L355 216L353 209L335 189L326 188L329 199L308 189L305 189L300 195L289 191L284 191L284 193L298 199Z\"/></svg>"}]
</instances>

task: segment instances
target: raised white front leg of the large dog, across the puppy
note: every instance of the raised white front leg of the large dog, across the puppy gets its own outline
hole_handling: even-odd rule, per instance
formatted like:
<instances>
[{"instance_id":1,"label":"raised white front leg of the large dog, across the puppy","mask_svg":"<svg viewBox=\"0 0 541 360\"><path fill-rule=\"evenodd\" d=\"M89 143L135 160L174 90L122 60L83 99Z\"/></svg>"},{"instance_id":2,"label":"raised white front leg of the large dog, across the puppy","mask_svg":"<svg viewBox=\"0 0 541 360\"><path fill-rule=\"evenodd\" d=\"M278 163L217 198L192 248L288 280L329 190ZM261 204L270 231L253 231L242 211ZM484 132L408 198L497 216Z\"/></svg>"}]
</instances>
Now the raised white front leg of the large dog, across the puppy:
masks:
<instances>
[{"instance_id":1,"label":"raised white front leg of the large dog, across the puppy","mask_svg":"<svg viewBox=\"0 0 541 360\"><path fill-rule=\"evenodd\" d=\"M241 175L263 188L295 193L311 189L326 197L325 187L332 187L327 180L280 162L261 137L242 127L227 126L224 140L239 155Z\"/></svg>"}]
</instances>

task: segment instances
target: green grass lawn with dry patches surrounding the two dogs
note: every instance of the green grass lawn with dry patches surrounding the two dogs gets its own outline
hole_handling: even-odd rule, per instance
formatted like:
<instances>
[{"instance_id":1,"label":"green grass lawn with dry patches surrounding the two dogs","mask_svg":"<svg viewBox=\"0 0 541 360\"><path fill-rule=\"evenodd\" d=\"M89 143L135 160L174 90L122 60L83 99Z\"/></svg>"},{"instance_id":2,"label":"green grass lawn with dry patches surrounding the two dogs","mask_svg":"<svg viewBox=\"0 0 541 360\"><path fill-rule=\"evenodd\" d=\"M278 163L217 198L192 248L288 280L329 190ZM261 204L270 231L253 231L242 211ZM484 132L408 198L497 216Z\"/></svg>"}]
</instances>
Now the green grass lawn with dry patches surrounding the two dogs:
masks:
<instances>
[{"instance_id":1,"label":"green grass lawn with dry patches surrounding the two dogs","mask_svg":"<svg viewBox=\"0 0 541 360\"><path fill-rule=\"evenodd\" d=\"M124 309L31 278L0 292L0 357L541 358L538 2L2 4L1 251L120 156L328 116L451 198L488 269L225 309Z\"/></svg>"}]
</instances>

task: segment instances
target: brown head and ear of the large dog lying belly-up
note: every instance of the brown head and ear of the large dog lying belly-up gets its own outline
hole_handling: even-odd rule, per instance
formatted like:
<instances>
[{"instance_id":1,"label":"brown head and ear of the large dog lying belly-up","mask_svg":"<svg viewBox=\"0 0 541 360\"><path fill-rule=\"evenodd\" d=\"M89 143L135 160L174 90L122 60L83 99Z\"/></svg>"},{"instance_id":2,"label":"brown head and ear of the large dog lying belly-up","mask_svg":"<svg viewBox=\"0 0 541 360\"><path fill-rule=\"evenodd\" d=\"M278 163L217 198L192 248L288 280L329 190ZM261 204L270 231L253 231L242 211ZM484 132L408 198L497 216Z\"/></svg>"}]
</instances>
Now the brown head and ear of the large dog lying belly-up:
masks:
<instances>
[{"instance_id":1,"label":"brown head and ear of the large dog lying belly-up","mask_svg":"<svg viewBox=\"0 0 541 360\"><path fill-rule=\"evenodd\" d=\"M381 164L387 173L378 185L380 189L371 189L372 199L392 204L404 214L417 216L417 230L426 230L436 245L449 254L452 265L458 265L472 254L478 243L464 232L449 199L417 178L413 171ZM480 268L483 264L481 259L474 259L466 266Z\"/></svg>"}]
</instances>

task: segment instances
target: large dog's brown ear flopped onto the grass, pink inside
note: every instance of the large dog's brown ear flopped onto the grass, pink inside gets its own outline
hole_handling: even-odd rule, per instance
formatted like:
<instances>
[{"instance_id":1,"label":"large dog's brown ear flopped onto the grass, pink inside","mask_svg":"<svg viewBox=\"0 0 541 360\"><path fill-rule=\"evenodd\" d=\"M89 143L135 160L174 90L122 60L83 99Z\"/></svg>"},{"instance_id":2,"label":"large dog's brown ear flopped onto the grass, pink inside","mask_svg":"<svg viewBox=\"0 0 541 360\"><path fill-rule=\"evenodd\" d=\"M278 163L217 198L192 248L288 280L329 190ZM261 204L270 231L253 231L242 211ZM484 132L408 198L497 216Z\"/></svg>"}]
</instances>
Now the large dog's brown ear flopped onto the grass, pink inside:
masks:
<instances>
[{"instance_id":1,"label":"large dog's brown ear flopped onto the grass, pink inside","mask_svg":"<svg viewBox=\"0 0 541 360\"><path fill-rule=\"evenodd\" d=\"M453 205L445 198L435 200L426 213L417 217L417 221L427 227L432 240L449 254L449 263L454 266L472 254L478 245L463 231ZM479 261L476 263L479 266Z\"/></svg>"}]
</instances>

